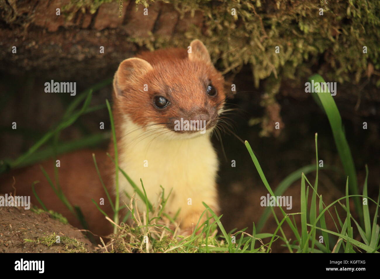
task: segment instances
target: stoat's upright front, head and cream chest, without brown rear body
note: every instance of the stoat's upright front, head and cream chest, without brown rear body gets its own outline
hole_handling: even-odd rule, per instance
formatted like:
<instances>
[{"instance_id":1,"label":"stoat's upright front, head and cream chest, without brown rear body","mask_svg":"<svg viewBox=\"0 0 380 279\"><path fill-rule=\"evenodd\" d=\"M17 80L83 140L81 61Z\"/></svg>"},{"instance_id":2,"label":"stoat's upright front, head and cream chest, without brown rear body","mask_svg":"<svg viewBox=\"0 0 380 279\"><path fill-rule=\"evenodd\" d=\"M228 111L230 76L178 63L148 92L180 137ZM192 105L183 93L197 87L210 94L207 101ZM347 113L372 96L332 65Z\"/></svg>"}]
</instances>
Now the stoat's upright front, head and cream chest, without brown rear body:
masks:
<instances>
[{"instance_id":1,"label":"stoat's upright front, head and cream chest, without brown rear body","mask_svg":"<svg viewBox=\"0 0 380 279\"><path fill-rule=\"evenodd\" d=\"M165 193L172 189L165 211L173 216L180 208L177 220L184 229L196 225L205 210L202 202L218 211L218 159L210 137L225 100L223 77L206 47L198 40L190 46L190 54L159 50L124 60L114 78L120 168L139 186L142 179L156 206L160 185ZM181 118L206 121L206 131L176 131ZM122 197L124 190L133 193L122 173L119 190ZM138 207L145 210L142 202Z\"/></svg>"}]
</instances>

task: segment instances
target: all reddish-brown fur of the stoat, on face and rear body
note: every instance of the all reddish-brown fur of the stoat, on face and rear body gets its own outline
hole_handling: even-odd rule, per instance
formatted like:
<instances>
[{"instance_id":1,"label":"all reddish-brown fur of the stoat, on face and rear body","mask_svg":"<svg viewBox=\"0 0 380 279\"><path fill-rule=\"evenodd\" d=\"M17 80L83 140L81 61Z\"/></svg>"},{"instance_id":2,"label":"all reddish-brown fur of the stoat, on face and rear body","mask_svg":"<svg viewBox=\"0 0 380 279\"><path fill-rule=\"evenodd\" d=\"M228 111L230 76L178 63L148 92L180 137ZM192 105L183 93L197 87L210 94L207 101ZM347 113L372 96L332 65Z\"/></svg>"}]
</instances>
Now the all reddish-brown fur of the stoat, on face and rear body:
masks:
<instances>
[{"instance_id":1,"label":"all reddish-brown fur of the stoat, on face and rear body","mask_svg":"<svg viewBox=\"0 0 380 279\"><path fill-rule=\"evenodd\" d=\"M201 43L196 44L193 52L198 51L199 47L202 50L202 46ZM143 52L137 57L147 61L153 69L138 79L126 80L125 75L128 73L143 72L144 63L140 63L142 69L128 68L128 66L120 69L120 66L115 75L114 85L121 88L119 96L117 96L117 92L113 95L113 115L118 142L120 125L124 115L129 115L133 122L140 126L153 122L167 123L168 127L172 127L174 119L181 117L191 119L199 112L209 113L211 119L216 119L218 110L224 104L225 93L223 91L223 77L212 66L208 52L206 54L198 51L191 54L189 58L185 49L166 49ZM215 97L207 96L205 93L209 82L212 82L218 91ZM148 85L149 90L147 92L142 90L144 84ZM157 110L152 103L152 98L157 95L170 99L171 106L165 110ZM96 173L92 152L91 150L81 150L59 156L57 158L61 162L59 181L63 193L71 204L81 207L90 230L97 235L104 236L112 232L112 226L97 210L91 199L99 203L100 198L104 198L105 205L100 207L111 218L112 211ZM94 152L102 178L111 193L112 200L114 200L111 178L114 174L114 164L107 158L105 151ZM123 150L119 148L118 152L123 152ZM112 141L109 153L114 157ZM53 181L54 164L55 162L51 160L41 163ZM32 203L38 206L31 185L33 181L39 180L40 183L35 186L36 192L46 207L62 213L68 218L70 224L81 228L79 221L53 192L39 165L13 170L3 175L0 178L0 193L14 192L13 177L15 178L16 195L29 195Z\"/></svg>"}]
</instances>

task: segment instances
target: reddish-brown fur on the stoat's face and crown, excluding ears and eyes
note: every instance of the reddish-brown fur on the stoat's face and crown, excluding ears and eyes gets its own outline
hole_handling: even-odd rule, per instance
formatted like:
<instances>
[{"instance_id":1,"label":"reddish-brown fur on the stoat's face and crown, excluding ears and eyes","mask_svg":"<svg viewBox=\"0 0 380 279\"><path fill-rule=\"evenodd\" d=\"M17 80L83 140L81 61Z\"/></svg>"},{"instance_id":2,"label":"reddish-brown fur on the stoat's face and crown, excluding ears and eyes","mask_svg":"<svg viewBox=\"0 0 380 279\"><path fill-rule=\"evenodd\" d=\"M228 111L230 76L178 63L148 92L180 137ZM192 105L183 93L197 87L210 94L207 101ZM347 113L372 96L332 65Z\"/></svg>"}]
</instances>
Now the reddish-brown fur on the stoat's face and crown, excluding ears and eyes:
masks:
<instances>
[{"instance_id":1,"label":"reddish-brown fur on the stoat's face and crown, excluding ears and eyes","mask_svg":"<svg viewBox=\"0 0 380 279\"><path fill-rule=\"evenodd\" d=\"M190 60L185 49L143 52L137 57L149 62L153 70L138 80L126 79L122 84L123 94L114 97L116 119L119 120L117 115L128 115L140 126L153 122L169 123L169 128L173 128L174 120L192 119L198 112L206 111L210 118L217 117L217 109L225 100L224 79L211 63ZM209 80L218 91L215 97L205 93ZM145 84L148 91L143 91ZM157 110L152 101L154 96L170 99L171 105Z\"/></svg>"}]
</instances>

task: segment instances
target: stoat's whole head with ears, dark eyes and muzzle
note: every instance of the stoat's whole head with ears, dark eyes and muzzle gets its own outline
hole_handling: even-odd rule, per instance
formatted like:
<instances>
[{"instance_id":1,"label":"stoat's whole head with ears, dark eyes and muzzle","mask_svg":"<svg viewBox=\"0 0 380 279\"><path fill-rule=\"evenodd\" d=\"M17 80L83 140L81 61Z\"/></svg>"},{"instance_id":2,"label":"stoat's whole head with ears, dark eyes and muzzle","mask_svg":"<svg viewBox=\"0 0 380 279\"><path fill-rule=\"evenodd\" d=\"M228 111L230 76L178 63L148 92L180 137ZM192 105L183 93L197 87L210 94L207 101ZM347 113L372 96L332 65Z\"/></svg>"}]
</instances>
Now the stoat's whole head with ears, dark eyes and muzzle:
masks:
<instances>
[{"instance_id":1,"label":"stoat's whole head with ears, dark eyes and muzzle","mask_svg":"<svg viewBox=\"0 0 380 279\"><path fill-rule=\"evenodd\" d=\"M118 110L146 131L191 138L215 127L225 102L223 76L199 40L120 63L114 77ZM204 126L206 124L206 126Z\"/></svg>"}]
</instances>

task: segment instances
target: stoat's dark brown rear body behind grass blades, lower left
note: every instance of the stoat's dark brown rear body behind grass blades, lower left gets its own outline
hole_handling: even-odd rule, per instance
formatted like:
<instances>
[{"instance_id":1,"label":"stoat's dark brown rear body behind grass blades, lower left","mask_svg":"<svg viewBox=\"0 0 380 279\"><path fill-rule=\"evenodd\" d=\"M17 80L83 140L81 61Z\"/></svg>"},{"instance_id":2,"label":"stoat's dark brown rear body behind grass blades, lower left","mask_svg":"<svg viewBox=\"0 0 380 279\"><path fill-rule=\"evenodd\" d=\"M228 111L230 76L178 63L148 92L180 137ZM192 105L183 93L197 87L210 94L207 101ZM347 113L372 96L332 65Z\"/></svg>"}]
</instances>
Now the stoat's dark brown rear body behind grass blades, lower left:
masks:
<instances>
[{"instance_id":1,"label":"stoat's dark brown rear body behind grass blades, lower left","mask_svg":"<svg viewBox=\"0 0 380 279\"><path fill-rule=\"evenodd\" d=\"M60 160L59 182L63 193L70 203L80 206L91 231L97 235L105 236L112 232L112 226L109 221L105 219L104 215L98 211L91 199L99 203L100 198L104 198L105 205L100 205L100 207L106 211L109 216L112 216L112 210L108 205L109 203L105 191L100 184L95 170L92 160L93 152L95 153L101 173L103 174L103 180L105 180L106 184L109 184L109 178L105 170L105 162L107 162L109 158L106 158L105 151L101 150L80 150L58 156L57 159ZM38 180L40 183L35 185L35 189L47 209L61 213L68 219L70 224L82 228L78 219L68 210L52 190L40 169L40 165L44 167L54 182L55 162L47 160L41 162L41 164L17 169L3 175L0 180L0 192L2 194L13 193L14 195L16 189L16 195L30 196L32 204L41 207L31 187L33 181Z\"/></svg>"}]
</instances>

